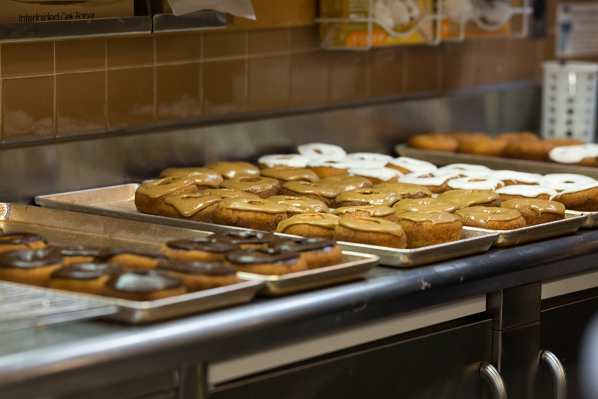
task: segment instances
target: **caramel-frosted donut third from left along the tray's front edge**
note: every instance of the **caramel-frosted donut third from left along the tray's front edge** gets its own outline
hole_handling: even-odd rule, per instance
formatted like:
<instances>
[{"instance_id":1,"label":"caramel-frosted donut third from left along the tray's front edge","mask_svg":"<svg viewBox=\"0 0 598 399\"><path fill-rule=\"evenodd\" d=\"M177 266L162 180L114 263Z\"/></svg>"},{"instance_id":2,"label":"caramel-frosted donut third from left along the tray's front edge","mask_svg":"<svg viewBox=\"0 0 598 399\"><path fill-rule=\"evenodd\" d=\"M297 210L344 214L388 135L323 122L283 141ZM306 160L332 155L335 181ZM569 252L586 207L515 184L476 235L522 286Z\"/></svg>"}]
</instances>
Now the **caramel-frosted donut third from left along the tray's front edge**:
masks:
<instances>
[{"instance_id":1,"label":"caramel-frosted donut third from left along the tray's front edge","mask_svg":"<svg viewBox=\"0 0 598 399\"><path fill-rule=\"evenodd\" d=\"M267 199L224 198L213 213L213 223L276 232L286 219L286 208Z\"/></svg>"}]
</instances>

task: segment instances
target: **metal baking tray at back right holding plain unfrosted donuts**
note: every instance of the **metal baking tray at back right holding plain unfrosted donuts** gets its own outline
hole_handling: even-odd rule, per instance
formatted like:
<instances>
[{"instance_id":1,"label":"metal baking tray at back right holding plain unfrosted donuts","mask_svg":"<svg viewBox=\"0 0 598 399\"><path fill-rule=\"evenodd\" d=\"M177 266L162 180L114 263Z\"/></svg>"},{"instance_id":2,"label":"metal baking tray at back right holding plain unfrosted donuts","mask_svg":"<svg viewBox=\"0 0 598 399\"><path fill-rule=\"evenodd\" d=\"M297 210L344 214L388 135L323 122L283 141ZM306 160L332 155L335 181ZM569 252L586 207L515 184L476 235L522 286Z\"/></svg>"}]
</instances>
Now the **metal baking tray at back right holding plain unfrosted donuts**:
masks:
<instances>
[{"instance_id":1,"label":"metal baking tray at back right holding plain unfrosted donuts","mask_svg":"<svg viewBox=\"0 0 598 399\"><path fill-rule=\"evenodd\" d=\"M450 165L451 163L472 163L496 170L517 170L518 172L540 173L542 175L548 173L577 173L578 175L598 179L598 167L422 150L421 148L405 147L404 144L397 145L395 151L402 157L425 160L438 166Z\"/></svg>"}]
</instances>

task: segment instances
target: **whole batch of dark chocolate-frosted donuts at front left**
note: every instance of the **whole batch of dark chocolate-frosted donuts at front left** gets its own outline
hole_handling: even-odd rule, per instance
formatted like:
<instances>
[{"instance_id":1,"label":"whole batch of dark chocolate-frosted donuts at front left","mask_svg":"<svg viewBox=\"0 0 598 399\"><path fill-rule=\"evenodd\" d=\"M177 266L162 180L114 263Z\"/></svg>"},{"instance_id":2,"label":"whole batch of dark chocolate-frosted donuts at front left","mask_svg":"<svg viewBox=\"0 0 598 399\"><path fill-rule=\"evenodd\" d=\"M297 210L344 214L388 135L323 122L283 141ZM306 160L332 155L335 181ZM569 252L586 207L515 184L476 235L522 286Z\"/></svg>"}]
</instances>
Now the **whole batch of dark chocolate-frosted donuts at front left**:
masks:
<instances>
[{"instance_id":1,"label":"whole batch of dark chocolate-frosted donuts at front left","mask_svg":"<svg viewBox=\"0 0 598 399\"><path fill-rule=\"evenodd\" d=\"M261 232L172 241L160 253L50 246L36 234L0 234L0 280L138 301L236 284L237 272L280 275L341 262L331 240Z\"/></svg>"}]
</instances>

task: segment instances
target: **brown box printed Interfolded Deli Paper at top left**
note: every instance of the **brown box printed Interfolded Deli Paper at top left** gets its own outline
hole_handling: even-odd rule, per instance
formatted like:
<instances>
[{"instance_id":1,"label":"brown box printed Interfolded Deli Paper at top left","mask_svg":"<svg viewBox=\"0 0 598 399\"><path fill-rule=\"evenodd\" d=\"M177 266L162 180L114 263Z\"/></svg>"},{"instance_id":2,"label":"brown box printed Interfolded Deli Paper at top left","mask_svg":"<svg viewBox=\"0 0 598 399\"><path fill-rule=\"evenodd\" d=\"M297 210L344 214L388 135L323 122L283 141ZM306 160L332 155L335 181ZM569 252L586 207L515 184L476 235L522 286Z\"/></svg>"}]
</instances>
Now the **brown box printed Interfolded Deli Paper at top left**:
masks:
<instances>
[{"instance_id":1,"label":"brown box printed Interfolded Deli Paper at top left","mask_svg":"<svg viewBox=\"0 0 598 399\"><path fill-rule=\"evenodd\" d=\"M44 1L0 0L0 23L86 20L110 17L133 17L133 0Z\"/></svg>"}]
</instances>

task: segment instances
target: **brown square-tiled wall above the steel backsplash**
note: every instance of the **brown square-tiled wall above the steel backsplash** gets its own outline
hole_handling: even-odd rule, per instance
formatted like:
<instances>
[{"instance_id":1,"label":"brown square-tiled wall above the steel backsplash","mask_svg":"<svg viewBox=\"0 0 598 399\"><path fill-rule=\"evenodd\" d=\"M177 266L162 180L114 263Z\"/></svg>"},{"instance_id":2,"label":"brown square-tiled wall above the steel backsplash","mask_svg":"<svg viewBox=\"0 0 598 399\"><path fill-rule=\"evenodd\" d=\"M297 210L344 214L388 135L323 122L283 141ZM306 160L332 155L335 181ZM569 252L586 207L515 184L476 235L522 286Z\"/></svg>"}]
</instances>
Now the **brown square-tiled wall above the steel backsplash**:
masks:
<instances>
[{"instance_id":1,"label":"brown square-tiled wall above the steel backsplash","mask_svg":"<svg viewBox=\"0 0 598 399\"><path fill-rule=\"evenodd\" d=\"M543 41L324 51L316 26L0 44L0 135L51 138L534 80L553 48L550 31Z\"/></svg>"}]
</instances>

